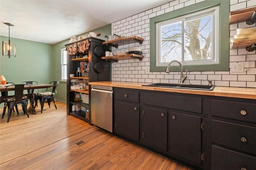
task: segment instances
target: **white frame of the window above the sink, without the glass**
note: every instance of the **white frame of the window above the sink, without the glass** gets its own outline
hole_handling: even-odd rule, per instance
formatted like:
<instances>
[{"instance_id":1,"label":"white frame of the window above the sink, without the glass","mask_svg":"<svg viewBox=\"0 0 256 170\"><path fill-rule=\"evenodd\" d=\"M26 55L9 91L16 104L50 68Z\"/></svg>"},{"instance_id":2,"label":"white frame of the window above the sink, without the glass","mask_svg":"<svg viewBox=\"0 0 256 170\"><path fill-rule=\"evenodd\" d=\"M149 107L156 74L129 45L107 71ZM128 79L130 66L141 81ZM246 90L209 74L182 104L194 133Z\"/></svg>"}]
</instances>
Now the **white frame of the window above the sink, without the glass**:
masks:
<instances>
[{"instance_id":1,"label":"white frame of the window above the sink, without the glass","mask_svg":"<svg viewBox=\"0 0 256 170\"><path fill-rule=\"evenodd\" d=\"M185 51L185 22L186 20L191 20L195 18L201 18L204 16L209 16L209 14L212 16L212 59L205 59L205 60L190 60L185 61L184 60L184 51ZM174 18L171 20L167 20L164 22L159 22L156 24L156 66L166 66L168 62L162 62L160 63L160 56L161 56L161 27L164 25L172 24L175 22L182 22L182 64L183 65L200 65L202 63L204 64L218 64L219 63L219 48L217 45L217 42L219 42L219 6L215 6L213 8L209 8L207 10L202 10L199 12L195 12L192 14L180 16L178 18ZM176 63L174 63L175 65Z\"/></svg>"}]
</instances>

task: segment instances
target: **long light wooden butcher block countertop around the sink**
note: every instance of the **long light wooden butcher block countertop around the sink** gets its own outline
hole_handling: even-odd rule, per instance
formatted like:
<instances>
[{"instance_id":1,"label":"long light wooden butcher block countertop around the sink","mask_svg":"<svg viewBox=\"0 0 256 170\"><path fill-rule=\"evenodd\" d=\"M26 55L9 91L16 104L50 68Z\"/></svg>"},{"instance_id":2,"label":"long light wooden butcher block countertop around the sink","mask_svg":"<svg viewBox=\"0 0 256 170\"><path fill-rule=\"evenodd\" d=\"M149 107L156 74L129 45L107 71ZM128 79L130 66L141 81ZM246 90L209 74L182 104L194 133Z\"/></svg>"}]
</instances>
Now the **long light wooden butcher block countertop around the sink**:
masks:
<instances>
[{"instance_id":1,"label":"long light wooden butcher block countertop around the sink","mask_svg":"<svg viewBox=\"0 0 256 170\"><path fill-rule=\"evenodd\" d=\"M187 93L195 95L210 95L210 96L222 96L222 97L236 97L244 99L256 99L256 88L245 88L245 87L222 87L216 86L214 90L193 90L193 89L175 89L165 87L149 87L142 86L150 83L135 83L135 82L122 82L122 81L97 81L90 82L89 85L102 85L110 87L122 87L129 89L143 89L153 91L166 91L175 93Z\"/></svg>"}]
</instances>

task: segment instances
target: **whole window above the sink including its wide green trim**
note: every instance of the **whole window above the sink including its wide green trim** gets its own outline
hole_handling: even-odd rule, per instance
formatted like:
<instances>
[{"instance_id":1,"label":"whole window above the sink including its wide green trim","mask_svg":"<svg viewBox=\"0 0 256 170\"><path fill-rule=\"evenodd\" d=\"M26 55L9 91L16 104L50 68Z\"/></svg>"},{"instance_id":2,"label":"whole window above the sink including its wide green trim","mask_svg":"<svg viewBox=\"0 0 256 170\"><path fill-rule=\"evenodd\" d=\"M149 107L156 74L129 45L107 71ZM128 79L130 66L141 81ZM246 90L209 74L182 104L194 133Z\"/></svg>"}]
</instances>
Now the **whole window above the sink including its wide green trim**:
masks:
<instances>
[{"instance_id":1,"label":"whole window above the sink including its wide green trim","mask_svg":"<svg viewBox=\"0 0 256 170\"><path fill-rule=\"evenodd\" d=\"M188 71L228 70L229 12L224 8L229 1L206 0L151 18L150 71L164 71L172 60Z\"/></svg>"}]
</instances>

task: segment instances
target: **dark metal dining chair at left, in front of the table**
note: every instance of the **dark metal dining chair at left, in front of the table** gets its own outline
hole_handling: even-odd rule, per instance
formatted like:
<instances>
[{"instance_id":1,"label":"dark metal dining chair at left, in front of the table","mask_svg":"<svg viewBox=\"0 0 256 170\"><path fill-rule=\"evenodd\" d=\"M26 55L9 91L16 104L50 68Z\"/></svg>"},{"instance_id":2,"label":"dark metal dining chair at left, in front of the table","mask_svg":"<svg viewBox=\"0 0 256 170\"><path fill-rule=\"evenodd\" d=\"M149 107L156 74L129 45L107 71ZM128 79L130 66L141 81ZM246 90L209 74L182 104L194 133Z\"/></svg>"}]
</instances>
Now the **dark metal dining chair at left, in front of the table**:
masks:
<instances>
[{"instance_id":1,"label":"dark metal dining chair at left, in front of the table","mask_svg":"<svg viewBox=\"0 0 256 170\"><path fill-rule=\"evenodd\" d=\"M29 86L28 90L30 90L30 85L26 84L27 86ZM12 110L13 107L16 106L17 104L21 104L22 108L24 108L24 111L26 113L26 115L29 117L28 115L28 109L27 109L27 102L28 102L28 97L26 95L23 94L24 91L24 86L25 84L14 84L14 85L8 85L5 88L5 98L4 98L4 102L6 107L8 107L8 118L7 118L7 123L10 120L10 117L12 115ZM14 96L8 96L8 88L10 87L14 87ZM4 114L2 115L2 118L4 117Z\"/></svg>"}]
</instances>

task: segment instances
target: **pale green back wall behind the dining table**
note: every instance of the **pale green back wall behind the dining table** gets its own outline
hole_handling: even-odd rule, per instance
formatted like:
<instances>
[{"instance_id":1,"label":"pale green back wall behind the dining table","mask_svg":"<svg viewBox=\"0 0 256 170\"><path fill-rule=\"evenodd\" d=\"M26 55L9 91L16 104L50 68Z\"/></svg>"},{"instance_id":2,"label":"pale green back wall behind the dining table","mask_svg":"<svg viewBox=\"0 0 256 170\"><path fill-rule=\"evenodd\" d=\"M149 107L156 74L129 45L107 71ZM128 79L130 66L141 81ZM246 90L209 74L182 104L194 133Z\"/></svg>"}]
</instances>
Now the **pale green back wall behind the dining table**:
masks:
<instances>
[{"instance_id":1,"label":"pale green back wall behind the dining table","mask_svg":"<svg viewBox=\"0 0 256 170\"><path fill-rule=\"evenodd\" d=\"M4 75L7 82L37 81L38 83L49 83L53 80L52 44L17 38L10 38L10 40L16 43L16 57L3 56L2 47L0 50L0 75ZM8 37L0 36L1 44L2 41L8 42Z\"/></svg>"}]
</instances>

